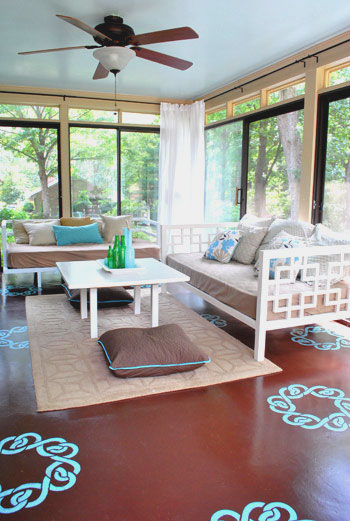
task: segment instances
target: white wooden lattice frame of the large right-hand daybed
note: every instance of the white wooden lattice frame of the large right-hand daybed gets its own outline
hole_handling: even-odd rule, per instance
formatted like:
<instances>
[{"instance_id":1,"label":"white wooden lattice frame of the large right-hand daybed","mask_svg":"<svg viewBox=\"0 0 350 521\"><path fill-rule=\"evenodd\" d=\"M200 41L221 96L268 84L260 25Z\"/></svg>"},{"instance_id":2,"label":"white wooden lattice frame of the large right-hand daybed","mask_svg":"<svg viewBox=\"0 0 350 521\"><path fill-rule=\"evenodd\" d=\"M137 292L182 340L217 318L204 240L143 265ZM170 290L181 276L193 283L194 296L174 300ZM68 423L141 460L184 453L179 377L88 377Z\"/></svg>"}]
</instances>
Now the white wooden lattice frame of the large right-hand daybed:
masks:
<instances>
[{"instance_id":1,"label":"white wooden lattice frame of the large right-hand daybed","mask_svg":"<svg viewBox=\"0 0 350 521\"><path fill-rule=\"evenodd\" d=\"M214 235L219 231L232 229L237 223L214 223L214 224L183 224L183 225L161 225L161 259L166 262L169 253L184 252L204 252L211 242ZM327 275L320 275L319 264L308 263L309 257L329 256L339 254L339 260L329 262ZM331 251L328 246L313 246L303 248L284 248L279 250L263 250L259 254L259 275L258 275L258 291L256 304L256 319L248 315L244 315L232 306L228 306L212 297L211 295L195 288L190 283L185 284L195 294L202 297L205 301L213 304L218 309L237 318L244 324L255 329L254 358L262 361L265 357L265 344L267 331L313 324L315 322L324 322L331 320L346 319L350 316L350 289L344 291L340 288L331 287L332 270L338 270L337 273L343 275L344 268L349 268L350 261L349 246L332 246ZM275 279L269 278L270 259L289 259L289 266L279 266L276 269ZM337 257L338 258L338 257ZM296 264L297 263L297 264ZM297 267L296 267L297 266ZM286 296L281 293L281 286L286 284L284 278L286 275L290 277L290 282L294 282L292 273L294 270L301 270L302 280L308 282L310 290ZM271 294L271 289L273 294ZM298 302L295 303L295 295ZM324 304L332 306L333 311L328 313L307 314L308 309L316 306L317 299L321 296ZM277 320L268 320L267 309L269 303L272 302L272 310L275 313L283 313L285 318Z\"/></svg>"}]
</instances>

